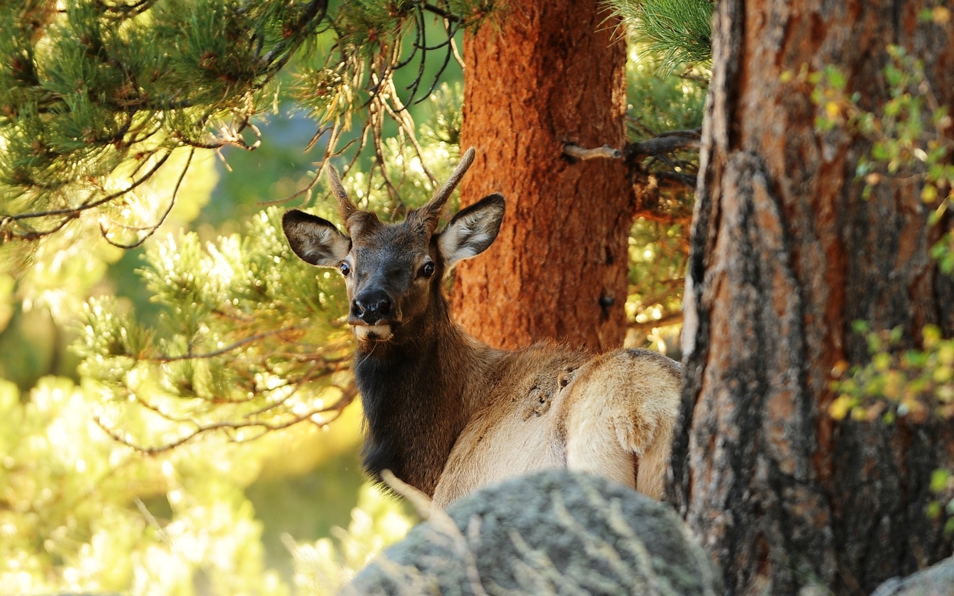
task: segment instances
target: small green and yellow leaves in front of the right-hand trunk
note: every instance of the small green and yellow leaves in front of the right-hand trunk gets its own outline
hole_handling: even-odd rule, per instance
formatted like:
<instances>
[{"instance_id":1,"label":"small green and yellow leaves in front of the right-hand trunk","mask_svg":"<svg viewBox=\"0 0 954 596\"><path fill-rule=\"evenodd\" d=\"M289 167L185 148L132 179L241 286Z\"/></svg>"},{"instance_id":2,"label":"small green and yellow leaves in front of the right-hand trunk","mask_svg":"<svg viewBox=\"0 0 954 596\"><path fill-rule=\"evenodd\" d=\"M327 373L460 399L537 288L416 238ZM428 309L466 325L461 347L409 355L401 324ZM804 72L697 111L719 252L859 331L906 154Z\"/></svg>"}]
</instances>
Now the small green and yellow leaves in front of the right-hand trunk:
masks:
<instances>
[{"instance_id":1,"label":"small green and yellow leaves in front of the right-hand trunk","mask_svg":"<svg viewBox=\"0 0 954 596\"><path fill-rule=\"evenodd\" d=\"M925 21L946 23L944 7L924 10ZM929 225L937 225L954 198L954 120L948 106L941 105L925 76L921 60L899 46L888 46L883 87L888 98L872 110L861 93L848 91L848 80L836 67L810 72L807 65L798 74L783 72L783 82L798 77L811 91L818 108L815 119L819 134L848 133L868 141L870 150L858 160L856 175L863 181L861 195L870 198L877 187L920 195L931 211ZM949 232L931 247L939 269L954 273L954 240ZM856 333L867 340L871 360L852 366L839 362L832 371L831 388L838 397L828 407L835 420L850 416L857 421L894 423L898 417L923 422L931 418L954 419L954 339L943 339L934 325L922 330L923 349L899 349L902 328L872 331L866 321L855 322ZM954 483L950 473L934 473L931 491L937 496L927 515L940 520L946 511L947 534L954 533Z\"/></svg>"}]
</instances>

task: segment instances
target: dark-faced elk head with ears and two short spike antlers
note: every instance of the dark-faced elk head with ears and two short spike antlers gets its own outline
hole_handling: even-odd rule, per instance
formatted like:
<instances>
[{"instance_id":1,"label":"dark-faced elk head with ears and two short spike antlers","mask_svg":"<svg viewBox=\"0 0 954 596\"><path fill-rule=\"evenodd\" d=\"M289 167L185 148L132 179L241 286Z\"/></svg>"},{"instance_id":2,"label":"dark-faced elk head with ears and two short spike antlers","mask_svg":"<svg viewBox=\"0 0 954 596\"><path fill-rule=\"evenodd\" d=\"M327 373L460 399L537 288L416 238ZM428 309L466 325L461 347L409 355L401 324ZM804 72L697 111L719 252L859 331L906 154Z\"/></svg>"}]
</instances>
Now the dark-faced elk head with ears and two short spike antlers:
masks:
<instances>
[{"instance_id":1,"label":"dark-faced elk head with ears and two short spike antlers","mask_svg":"<svg viewBox=\"0 0 954 596\"><path fill-rule=\"evenodd\" d=\"M447 198L473 162L468 149L445 185L420 209L399 223L382 223L361 211L344 193L334 168L331 190L348 236L330 221L298 210L285 213L281 227L295 254L319 267L334 267L344 276L350 310L348 322L361 342L403 343L420 333L427 313L445 304L441 278L459 260L484 252L497 237L504 218L503 195L487 195L461 210L435 233Z\"/></svg>"}]
</instances>

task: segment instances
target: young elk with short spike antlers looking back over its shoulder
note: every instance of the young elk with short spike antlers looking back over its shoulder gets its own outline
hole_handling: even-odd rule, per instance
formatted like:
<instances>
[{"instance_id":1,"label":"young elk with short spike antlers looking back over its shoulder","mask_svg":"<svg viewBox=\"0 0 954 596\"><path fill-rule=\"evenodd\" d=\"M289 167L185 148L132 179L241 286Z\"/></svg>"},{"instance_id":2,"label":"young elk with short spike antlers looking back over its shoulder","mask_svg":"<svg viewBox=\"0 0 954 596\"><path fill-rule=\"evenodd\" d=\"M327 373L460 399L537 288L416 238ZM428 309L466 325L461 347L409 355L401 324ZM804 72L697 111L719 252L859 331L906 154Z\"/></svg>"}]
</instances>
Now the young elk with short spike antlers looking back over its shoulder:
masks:
<instances>
[{"instance_id":1,"label":"young elk with short spike antlers looking back over its shoulder","mask_svg":"<svg viewBox=\"0 0 954 596\"><path fill-rule=\"evenodd\" d=\"M400 223L360 211L329 170L349 236L301 211L282 219L295 254L344 276L358 339L364 465L446 504L487 483L568 467L658 499L677 411L679 366L645 350L593 356L552 342L515 351L471 338L450 318L441 279L484 252L504 217L488 195L436 233L470 149L443 188Z\"/></svg>"}]
</instances>

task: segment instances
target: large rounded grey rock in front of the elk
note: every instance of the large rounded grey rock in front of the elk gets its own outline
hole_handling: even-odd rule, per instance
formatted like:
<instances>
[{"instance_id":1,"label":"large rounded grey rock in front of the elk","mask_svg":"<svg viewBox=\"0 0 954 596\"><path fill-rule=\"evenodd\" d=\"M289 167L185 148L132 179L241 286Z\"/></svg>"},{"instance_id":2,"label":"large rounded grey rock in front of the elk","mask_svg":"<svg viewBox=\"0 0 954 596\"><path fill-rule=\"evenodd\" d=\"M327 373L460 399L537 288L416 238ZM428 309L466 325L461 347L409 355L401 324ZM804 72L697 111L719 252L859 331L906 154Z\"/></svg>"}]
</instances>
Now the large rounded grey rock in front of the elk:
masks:
<instances>
[{"instance_id":1,"label":"large rounded grey rock in front of the elk","mask_svg":"<svg viewBox=\"0 0 954 596\"><path fill-rule=\"evenodd\" d=\"M446 513L415 526L341 593L721 593L668 505L603 478L539 472L477 491Z\"/></svg>"}]
</instances>

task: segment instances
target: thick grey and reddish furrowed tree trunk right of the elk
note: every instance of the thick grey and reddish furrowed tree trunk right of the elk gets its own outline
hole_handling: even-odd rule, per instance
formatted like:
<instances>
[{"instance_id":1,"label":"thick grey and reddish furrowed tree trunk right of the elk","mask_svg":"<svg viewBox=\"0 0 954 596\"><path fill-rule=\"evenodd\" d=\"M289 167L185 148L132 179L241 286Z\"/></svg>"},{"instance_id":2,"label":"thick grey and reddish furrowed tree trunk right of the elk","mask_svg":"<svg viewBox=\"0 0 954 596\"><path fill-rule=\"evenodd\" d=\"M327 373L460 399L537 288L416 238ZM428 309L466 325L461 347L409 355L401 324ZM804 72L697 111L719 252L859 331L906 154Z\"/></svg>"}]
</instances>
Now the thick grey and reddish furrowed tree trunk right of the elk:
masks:
<instances>
[{"instance_id":1,"label":"thick grey and reddish furrowed tree trunk right of the elk","mask_svg":"<svg viewBox=\"0 0 954 596\"><path fill-rule=\"evenodd\" d=\"M670 497L731 594L822 584L868 594L951 553L928 483L954 465L949 421L833 421L831 371L864 363L854 320L949 337L954 292L916 185L856 181L870 147L818 134L784 71L836 65L862 108L887 99L885 46L923 57L947 105L954 35L933 2L721 0L686 285L683 407Z\"/></svg>"}]
</instances>

